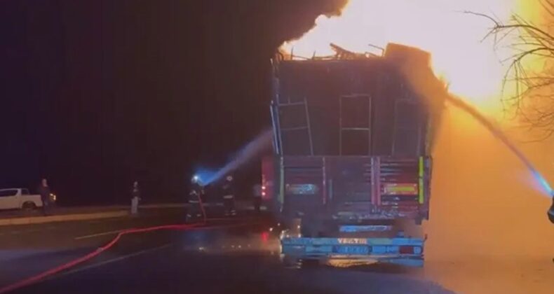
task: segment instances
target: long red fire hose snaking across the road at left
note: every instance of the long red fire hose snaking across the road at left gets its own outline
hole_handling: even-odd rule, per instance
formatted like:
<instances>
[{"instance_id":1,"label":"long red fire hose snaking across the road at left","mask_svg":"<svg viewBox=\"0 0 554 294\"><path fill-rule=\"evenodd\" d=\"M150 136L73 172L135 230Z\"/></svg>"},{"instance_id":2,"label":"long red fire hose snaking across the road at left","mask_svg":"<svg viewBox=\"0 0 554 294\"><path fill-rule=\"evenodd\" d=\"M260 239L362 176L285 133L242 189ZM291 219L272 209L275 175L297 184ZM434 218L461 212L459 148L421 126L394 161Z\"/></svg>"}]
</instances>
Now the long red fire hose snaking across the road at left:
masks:
<instances>
[{"instance_id":1,"label":"long red fire hose snaking across the road at left","mask_svg":"<svg viewBox=\"0 0 554 294\"><path fill-rule=\"evenodd\" d=\"M202 229L215 229L215 228L230 228L237 225L219 225L219 226L206 226L208 221L219 221L222 220L222 218L206 218L205 209L201 200L201 197L198 197L199 199L199 205L201 207L202 211L202 221L199 223L192 223L192 224L176 224L176 225L159 225L156 227L149 227L149 228L134 228L134 229L128 229L123 230L119 232L112 241L109 241L108 244L101 246L100 248L97 248L95 251L90 252L80 258L76 258L72 261L66 262L63 265L59 265L58 267L53 267L52 269L48 269L44 272L41 272L40 274L36 274L34 276L30 276L27 279L23 279L21 281L12 283L11 285L4 286L0 288L0 294L8 293L13 290L18 290L20 288L30 286L34 283L37 283L43 279L46 279L48 276L53 276L55 274L59 274L60 272L69 269L71 267L75 267L76 265L80 265L83 262L86 262L88 260L91 260L95 258L97 255L100 255L100 253L107 251L109 248L112 248L118 241L123 237L123 235L130 235L130 234L137 234L137 233L144 233L144 232L152 232L157 230L202 230Z\"/></svg>"}]
</instances>

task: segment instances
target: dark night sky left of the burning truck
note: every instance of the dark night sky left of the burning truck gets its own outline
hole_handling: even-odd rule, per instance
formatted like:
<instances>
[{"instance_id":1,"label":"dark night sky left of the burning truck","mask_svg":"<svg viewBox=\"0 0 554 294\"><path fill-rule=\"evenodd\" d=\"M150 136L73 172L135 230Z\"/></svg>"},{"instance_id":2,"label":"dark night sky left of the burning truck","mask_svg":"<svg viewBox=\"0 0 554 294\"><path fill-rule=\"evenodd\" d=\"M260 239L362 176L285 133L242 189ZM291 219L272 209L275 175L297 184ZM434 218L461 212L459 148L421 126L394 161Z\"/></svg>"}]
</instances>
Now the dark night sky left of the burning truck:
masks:
<instances>
[{"instance_id":1,"label":"dark night sky left of the burning truck","mask_svg":"<svg viewBox=\"0 0 554 294\"><path fill-rule=\"evenodd\" d=\"M184 195L269 126L269 59L345 0L4 0L0 187Z\"/></svg>"}]
</instances>

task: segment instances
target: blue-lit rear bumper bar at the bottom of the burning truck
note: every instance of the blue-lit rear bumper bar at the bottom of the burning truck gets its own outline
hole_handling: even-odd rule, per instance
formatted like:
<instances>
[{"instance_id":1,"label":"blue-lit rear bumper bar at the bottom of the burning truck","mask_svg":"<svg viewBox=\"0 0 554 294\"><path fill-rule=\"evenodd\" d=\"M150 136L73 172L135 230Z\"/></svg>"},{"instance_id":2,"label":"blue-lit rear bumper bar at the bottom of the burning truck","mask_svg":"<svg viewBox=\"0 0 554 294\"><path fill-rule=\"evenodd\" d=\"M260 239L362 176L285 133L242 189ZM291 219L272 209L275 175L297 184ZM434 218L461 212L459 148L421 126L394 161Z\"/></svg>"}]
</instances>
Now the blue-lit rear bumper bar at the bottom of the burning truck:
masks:
<instances>
[{"instance_id":1,"label":"blue-lit rear bumper bar at the bottom of the burning truck","mask_svg":"<svg viewBox=\"0 0 554 294\"><path fill-rule=\"evenodd\" d=\"M281 254L288 258L375 260L423 267L424 239L394 238L281 238Z\"/></svg>"}]
</instances>

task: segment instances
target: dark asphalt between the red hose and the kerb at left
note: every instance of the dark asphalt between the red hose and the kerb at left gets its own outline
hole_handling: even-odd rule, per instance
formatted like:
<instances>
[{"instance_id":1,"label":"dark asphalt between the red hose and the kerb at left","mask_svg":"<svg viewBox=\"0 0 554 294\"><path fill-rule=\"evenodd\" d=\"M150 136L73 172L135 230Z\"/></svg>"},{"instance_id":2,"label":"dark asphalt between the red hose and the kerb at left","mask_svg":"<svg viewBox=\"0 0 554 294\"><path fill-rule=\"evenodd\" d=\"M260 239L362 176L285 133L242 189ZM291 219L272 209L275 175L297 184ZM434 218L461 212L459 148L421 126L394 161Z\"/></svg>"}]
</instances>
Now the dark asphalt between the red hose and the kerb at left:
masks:
<instances>
[{"instance_id":1,"label":"dark asphalt between the red hose and the kerb at left","mask_svg":"<svg viewBox=\"0 0 554 294\"><path fill-rule=\"evenodd\" d=\"M183 209L147 209L136 218L1 226L0 288L94 251L120 230L182 223L183 215ZM135 244L142 248L142 241L127 243L100 258L119 255L118 250L122 249L135 250ZM150 245L144 242L144 246ZM127 252L123 250L123 253Z\"/></svg>"}]
</instances>

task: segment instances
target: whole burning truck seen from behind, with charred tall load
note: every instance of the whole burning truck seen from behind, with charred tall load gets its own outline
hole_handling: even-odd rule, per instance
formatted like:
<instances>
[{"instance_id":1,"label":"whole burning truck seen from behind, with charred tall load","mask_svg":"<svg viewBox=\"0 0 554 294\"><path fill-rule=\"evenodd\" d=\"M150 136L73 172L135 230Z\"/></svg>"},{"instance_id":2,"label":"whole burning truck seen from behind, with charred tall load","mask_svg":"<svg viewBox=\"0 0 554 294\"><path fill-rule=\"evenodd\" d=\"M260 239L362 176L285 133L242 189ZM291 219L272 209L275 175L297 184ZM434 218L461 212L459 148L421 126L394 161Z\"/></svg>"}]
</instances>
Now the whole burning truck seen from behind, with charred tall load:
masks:
<instances>
[{"instance_id":1,"label":"whole burning truck seen from behind, with charred tall load","mask_svg":"<svg viewBox=\"0 0 554 294\"><path fill-rule=\"evenodd\" d=\"M282 256L422 266L433 109L442 101L413 83L438 80L431 57L398 44L379 56L334 49L326 58L273 59L273 154L262 186L287 228Z\"/></svg>"}]
</instances>

